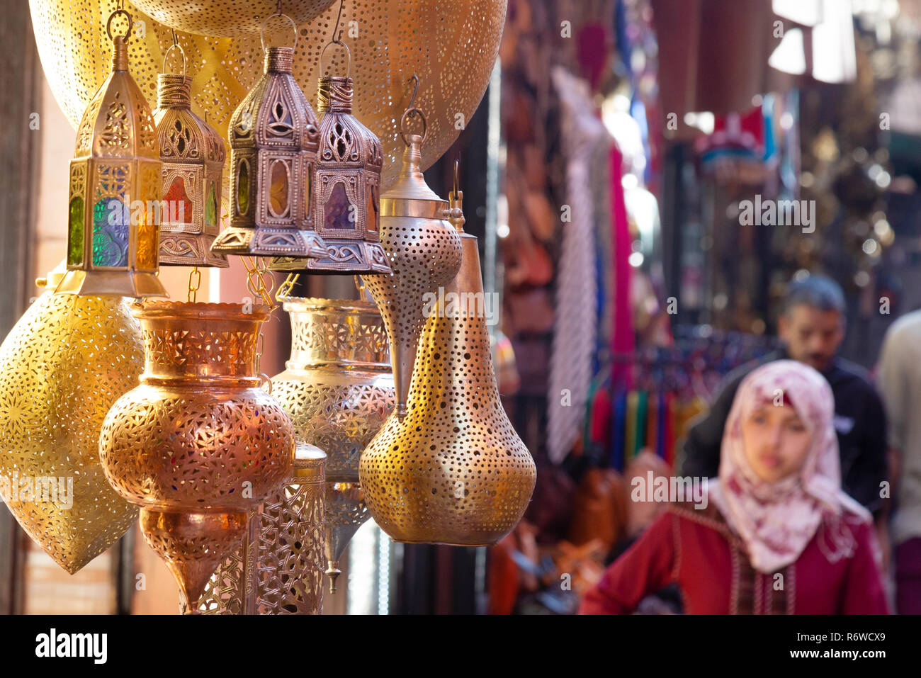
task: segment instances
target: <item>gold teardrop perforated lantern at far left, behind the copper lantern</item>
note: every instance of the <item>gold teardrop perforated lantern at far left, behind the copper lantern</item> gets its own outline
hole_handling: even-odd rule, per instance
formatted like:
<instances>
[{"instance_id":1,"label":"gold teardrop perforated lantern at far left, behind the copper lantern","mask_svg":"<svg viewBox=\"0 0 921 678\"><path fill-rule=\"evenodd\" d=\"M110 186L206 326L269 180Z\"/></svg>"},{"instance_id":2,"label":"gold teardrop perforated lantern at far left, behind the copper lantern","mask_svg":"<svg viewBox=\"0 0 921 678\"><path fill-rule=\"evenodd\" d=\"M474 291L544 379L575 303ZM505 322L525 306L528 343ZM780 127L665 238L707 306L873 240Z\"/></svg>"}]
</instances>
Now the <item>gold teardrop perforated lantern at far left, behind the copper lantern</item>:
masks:
<instances>
[{"instance_id":1,"label":"gold teardrop perforated lantern at far left, behind the copper lantern","mask_svg":"<svg viewBox=\"0 0 921 678\"><path fill-rule=\"evenodd\" d=\"M121 297L51 290L0 346L0 495L22 529L74 574L118 541L137 509L106 482L99 429L144 368L141 327Z\"/></svg>"}]
</instances>

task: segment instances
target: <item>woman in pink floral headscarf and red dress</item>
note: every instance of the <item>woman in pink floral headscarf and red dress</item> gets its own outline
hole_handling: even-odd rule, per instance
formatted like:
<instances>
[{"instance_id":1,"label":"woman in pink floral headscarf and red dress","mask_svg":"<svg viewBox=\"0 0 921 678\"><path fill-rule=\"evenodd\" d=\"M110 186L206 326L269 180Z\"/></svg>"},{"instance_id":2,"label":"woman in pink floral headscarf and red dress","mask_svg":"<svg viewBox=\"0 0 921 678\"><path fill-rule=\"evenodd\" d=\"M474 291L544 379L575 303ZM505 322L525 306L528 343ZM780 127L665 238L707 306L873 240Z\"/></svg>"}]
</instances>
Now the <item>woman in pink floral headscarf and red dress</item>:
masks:
<instances>
[{"instance_id":1,"label":"woman in pink floral headscarf and red dress","mask_svg":"<svg viewBox=\"0 0 921 678\"><path fill-rule=\"evenodd\" d=\"M833 416L813 368L754 370L704 500L670 504L579 613L630 614L673 582L687 614L888 614L872 519L841 490Z\"/></svg>"}]
</instances>

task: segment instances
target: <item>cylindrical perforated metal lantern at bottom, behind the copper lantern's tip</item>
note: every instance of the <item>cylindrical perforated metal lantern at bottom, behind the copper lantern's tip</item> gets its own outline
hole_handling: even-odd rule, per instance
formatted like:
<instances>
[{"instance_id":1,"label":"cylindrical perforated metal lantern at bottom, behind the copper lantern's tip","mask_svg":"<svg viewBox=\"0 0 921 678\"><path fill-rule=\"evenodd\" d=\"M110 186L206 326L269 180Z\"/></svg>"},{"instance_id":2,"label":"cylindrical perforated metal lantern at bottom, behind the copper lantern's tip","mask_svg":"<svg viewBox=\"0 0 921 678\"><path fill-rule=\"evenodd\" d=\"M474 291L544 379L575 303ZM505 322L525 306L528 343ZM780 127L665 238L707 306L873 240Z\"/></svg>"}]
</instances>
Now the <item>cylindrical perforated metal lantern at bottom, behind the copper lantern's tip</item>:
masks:
<instances>
[{"instance_id":1,"label":"cylindrical perforated metal lantern at bottom, behind the copper lantern's tip","mask_svg":"<svg viewBox=\"0 0 921 678\"><path fill-rule=\"evenodd\" d=\"M322 450L297 442L287 485L252 511L243 543L208 580L200 613L322 614L325 462Z\"/></svg>"}]
</instances>

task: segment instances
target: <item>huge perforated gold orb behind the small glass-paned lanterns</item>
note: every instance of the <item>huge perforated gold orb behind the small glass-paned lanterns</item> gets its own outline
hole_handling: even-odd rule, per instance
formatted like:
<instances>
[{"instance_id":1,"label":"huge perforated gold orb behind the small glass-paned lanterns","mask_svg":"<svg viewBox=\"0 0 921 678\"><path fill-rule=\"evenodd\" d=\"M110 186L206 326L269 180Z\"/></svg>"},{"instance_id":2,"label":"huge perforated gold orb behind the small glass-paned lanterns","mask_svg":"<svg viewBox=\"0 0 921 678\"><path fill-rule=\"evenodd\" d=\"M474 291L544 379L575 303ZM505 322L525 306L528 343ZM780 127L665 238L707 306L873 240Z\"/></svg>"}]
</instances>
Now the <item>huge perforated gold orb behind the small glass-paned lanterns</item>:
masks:
<instances>
[{"instance_id":1,"label":"huge perforated gold orb behind the small glass-paned lanterns","mask_svg":"<svg viewBox=\"0 0 921 678\"><path fill-rule=\"evenodd\" d=\"M177 0L179 2L179 0ZM350 0L340 21L342 39L352 53L355 80L353 112L383 146L381 191L400 171L403 143L397 123L420 79L415 106L426 111L428 134L422 168L429 167L470 123L483 98L505 24L507 0ZM292 3L293 5L293 3ZM68 120L75 125L93 93L108 75L106 21L115 0L29 0L41 64ZM129 45L132 76L148 99L155 99L157 72L172 44L168 26L130 2L134 17ZM284 11L290 13L288 4ZM316 100L320 53L332 38L339 4L297 26L294 76ZM113 29L122 32L113 21ZM143 28L142 28L143 26ZM290 29L269 22L266 41L288 44ZM177 30L192 76L192 109L225 141L227 123L239 101L262 76L259 35L206 38ZM332 51L331 51L332 52ZM344 53L329 59L331 72L345 72ZM326 62L324 62L325 64ZM227 146L229 153L229 146ZM227 183L225 183L227 194Z\"/></svg>"}]
</instances>

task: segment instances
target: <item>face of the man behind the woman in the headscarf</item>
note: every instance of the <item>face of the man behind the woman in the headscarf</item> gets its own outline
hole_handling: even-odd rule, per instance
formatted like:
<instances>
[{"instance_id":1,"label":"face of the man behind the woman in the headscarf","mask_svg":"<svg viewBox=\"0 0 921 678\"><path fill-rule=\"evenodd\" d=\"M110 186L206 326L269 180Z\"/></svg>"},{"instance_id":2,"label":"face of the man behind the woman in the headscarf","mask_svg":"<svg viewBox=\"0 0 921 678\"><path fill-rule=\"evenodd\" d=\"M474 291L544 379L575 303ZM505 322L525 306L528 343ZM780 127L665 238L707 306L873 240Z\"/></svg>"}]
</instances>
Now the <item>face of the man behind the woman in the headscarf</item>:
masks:
<instances>
[{"instance_id":1,"label":"face of the man behind the woman in the headscarf","mask_svg":"<svg viewBox=\"0 0 921 678\"><path fill-rule=\"evenodd\" d=\"M777 331L790 357L822 372L845 338L845 319L836 310L798 304L780 317Z\"/></svg>"}]
</instances>

